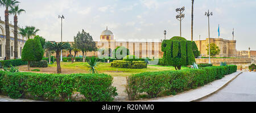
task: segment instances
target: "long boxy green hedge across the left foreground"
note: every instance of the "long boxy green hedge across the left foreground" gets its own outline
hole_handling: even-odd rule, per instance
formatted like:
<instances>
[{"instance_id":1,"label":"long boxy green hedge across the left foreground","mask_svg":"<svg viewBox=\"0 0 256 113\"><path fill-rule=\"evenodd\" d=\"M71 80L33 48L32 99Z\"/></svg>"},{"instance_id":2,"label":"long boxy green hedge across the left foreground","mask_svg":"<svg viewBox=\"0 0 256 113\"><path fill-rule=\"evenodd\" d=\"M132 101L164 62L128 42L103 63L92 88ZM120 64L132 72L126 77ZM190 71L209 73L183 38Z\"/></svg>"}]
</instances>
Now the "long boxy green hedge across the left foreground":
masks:
<instances>
[{"instance_id":1,"label":"long boxy green hedge across the left foreground","mask_svg":"<svg viewBox=\"0 0 256 113\"><path fill-rule=\"evenodd\" d=\"M113 77L105 74L46 74L0 71L0 91L10 98L41 101L73 101L72 94L80 92L79 101L113 101L117 90Z\"/></svg>"}]
</instances>

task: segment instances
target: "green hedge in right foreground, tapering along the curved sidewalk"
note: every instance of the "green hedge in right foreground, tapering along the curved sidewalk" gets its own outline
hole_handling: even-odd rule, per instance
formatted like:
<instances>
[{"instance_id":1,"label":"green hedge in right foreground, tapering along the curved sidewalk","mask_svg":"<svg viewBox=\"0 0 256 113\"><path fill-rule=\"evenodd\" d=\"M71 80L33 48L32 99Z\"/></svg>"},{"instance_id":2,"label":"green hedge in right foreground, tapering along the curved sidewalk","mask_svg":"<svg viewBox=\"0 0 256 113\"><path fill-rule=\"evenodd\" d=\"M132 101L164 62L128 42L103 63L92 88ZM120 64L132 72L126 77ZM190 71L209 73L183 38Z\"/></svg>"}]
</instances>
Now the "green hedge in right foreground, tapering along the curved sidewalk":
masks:
<instances>
[{"instance_id":1,"label":"green hedge in right foreground, tapering along the curved sidewalk","mask_svg":"<svg viewBox=\"0 0 256 113\"><path fill-rule=\"evenodd\" d=\"M205 67L179 71L144 72L127 77L126 92L130 100L140 93L149 98L158 97L160 92L176 94L195 89L237 71L237 66Z\"/></svg>"}]
</instances>

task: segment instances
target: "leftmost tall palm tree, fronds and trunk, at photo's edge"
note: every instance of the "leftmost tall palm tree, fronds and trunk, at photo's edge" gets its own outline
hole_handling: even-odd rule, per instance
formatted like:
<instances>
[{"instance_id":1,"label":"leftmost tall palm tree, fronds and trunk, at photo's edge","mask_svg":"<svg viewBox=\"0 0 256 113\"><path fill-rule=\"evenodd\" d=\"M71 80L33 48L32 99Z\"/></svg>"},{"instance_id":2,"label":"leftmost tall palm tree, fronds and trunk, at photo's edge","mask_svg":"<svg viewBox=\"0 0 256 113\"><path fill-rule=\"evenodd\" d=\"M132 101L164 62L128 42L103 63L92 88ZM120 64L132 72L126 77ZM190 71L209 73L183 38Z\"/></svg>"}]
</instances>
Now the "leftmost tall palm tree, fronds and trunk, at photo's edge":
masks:
<instances>
[{"instance_id":1,"label":"leftmost tall palm tree, fronds and trunk, at photo's edge","mask_svg":"<svg viewBox=\"0 0 256 113\"><path fill-rule=\"evenodd\" d=\"M9 7L15 6L19 3L16 0L0 0L1 6L5 7L5 34L6 34L6 45L5 45L5 53L6 60L11 58L10 54L10 27L9 27Z\"/></svg>"}]
</instances>

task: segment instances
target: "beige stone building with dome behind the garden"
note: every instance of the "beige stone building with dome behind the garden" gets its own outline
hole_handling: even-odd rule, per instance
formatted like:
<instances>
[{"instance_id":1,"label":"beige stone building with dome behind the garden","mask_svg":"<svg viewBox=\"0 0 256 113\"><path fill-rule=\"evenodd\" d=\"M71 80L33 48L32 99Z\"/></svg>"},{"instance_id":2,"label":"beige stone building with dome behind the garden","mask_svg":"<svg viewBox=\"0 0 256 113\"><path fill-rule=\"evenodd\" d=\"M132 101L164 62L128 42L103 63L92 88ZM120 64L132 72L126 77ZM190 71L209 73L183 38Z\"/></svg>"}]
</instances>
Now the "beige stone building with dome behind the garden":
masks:
<instances>
[{"instance_id":1,"label":"beige stone building with dome behind the garden","mask_svg":"<svg viewBox=\"0 0 256 113\"><path fill-rule=\"evenodd\" d=\"M72 42L70 42L72 43ZM162 42L128 42L128 41L115 41L114 33L106 28L101 33L100 41L96 41L98 49L109 49L109 53L112 53L118 46L124 46L129 49L131 55L136 55L140 58L162 58L163 52L161 51ZM63 52L63 56L67 56L68 51ZM92 51L88 52L86 56L98 56L100 52ZM82 56L82 53L78 53L77 56ZM112 56L112 54L109 54Z\"/></svg>"}]
</instances>

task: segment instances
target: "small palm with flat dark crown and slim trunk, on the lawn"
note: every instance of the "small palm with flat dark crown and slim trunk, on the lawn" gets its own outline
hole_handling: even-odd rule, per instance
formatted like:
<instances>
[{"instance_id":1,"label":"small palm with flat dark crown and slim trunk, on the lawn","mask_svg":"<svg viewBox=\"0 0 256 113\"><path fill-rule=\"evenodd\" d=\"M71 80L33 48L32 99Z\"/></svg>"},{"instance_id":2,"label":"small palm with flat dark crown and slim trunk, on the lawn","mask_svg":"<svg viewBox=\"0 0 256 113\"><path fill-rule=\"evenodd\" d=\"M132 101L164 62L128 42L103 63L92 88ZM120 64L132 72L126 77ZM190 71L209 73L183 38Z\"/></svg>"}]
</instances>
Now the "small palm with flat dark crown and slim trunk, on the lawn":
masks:
<instances>
[{"instance_id":1,"label":"small palm with flat dark crown and slim trunk, on the lawn","mask_svg":"<svg viewBox=\"0 0 256 113\"><path fill-rule=\"evenodd\" d=\"M70 44L67 42L46 42L44 45L44 48L47 50L54 50L56 52L56 62L57 62L57 73L61 73L61 67L60 67L60 51L68 49L70 47Z\"/></svg>"}]
</instances>

